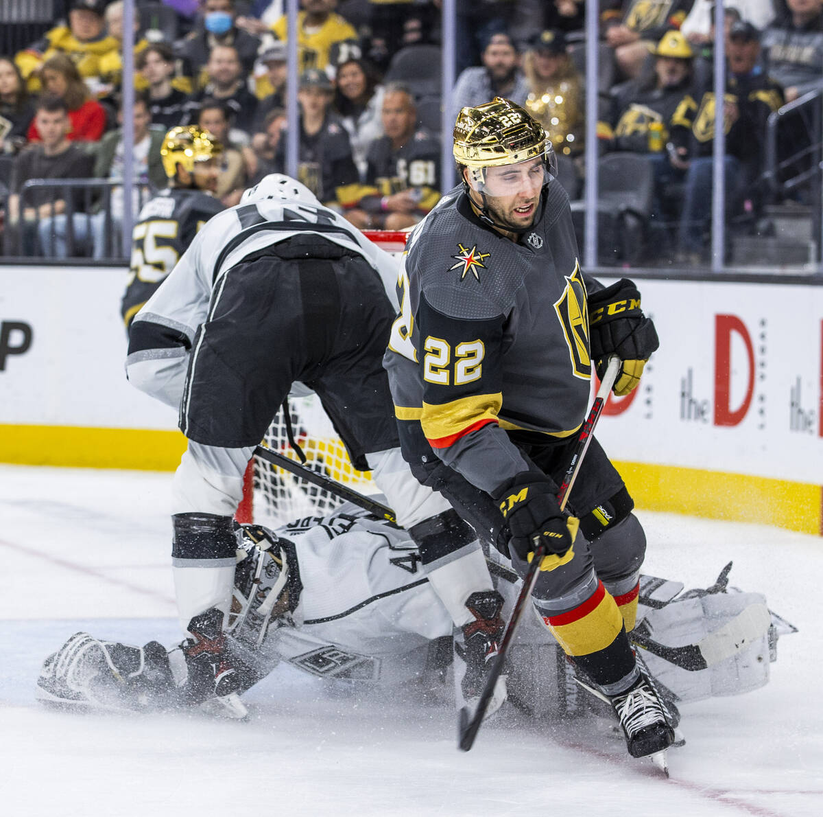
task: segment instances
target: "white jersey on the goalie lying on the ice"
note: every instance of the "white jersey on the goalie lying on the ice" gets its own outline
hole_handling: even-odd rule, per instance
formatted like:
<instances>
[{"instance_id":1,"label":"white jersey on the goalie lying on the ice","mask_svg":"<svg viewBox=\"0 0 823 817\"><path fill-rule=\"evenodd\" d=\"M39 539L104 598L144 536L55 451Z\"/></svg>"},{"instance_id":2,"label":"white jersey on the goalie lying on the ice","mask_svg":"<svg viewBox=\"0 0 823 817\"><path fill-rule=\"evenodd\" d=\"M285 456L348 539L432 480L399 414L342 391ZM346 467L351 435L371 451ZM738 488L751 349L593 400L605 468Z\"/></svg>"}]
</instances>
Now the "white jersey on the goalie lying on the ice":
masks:
<instances>
[{"instance_id":1,"label":"white jersey on the goalie lying on the ice","mask_svg":"<svg viewBox=\"0 0 823 817\"><path fill-rule=\"evenodd\" d=\"M421 675L430 642L451 636L405 530L348 505L277 535L295 546L302 591L295 626L280 619L258 647L264 671L282 659L312 675L397 683ZM249 616L235 637L257 642L260 623Z\"/></svg>"}]
</instances>

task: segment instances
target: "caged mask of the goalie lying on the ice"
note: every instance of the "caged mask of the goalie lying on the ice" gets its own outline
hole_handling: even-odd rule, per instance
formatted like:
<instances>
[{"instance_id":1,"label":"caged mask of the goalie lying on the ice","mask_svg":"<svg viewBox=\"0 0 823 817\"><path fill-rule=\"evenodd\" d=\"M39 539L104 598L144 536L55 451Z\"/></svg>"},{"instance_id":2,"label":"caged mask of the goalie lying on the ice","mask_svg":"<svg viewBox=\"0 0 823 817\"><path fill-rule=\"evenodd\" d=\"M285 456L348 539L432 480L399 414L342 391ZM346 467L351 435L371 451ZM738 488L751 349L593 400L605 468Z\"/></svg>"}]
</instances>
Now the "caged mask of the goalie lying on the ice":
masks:
<instances>
[{"instance_id":1,"label":"caged mask of the goalie lying on the ice","mask_svg":"<svg viewBox=\"0 0 823 817\"><path fill-rule=\"evenodd\" d=\"M235 589L227 632L239 642L259 647L268 629L294 626L298 597L290 593L290 544L262 525L238 531Z\"/></svg>"}]
</instances>

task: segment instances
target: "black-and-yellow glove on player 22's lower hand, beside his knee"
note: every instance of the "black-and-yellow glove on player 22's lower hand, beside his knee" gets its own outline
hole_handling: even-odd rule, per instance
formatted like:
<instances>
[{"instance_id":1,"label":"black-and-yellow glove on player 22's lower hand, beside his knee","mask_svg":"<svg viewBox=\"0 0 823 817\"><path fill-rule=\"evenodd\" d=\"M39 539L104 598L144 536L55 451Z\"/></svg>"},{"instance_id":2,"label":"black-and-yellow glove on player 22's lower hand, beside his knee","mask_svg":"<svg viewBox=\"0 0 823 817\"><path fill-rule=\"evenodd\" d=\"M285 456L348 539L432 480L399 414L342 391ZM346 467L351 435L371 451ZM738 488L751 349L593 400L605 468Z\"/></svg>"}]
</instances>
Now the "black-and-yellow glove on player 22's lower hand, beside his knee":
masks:
<instances>
[{"instance_id":1,"label":"black-and-yellow glove on player 22's lower hand, beside his knee","mask_svg":"<svg viewBox=\"0 0 823 817\"><path fill-rule=\"evenodd\" d=\"M541 570L554 570L574 558L572 544L579 520L564 516L555 496L556 487L543 474L525 471L514 484L495 493L500 511L509 523L509 549L525 559L532 556L540 544L546 545Z\"/></svg>"}]
</instances>

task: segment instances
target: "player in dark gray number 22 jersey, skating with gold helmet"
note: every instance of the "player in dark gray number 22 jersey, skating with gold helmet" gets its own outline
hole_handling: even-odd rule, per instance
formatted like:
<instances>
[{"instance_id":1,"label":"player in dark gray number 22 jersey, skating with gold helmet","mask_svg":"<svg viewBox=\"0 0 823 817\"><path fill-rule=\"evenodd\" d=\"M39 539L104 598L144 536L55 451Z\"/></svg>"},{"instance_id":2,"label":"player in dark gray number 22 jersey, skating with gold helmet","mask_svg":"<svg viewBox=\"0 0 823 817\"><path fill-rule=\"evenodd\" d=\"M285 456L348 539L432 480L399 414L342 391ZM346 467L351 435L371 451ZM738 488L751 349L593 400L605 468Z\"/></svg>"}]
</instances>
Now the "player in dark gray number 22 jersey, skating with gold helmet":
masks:
<instances>
[{"instance_id":1,"label":"player in dark gray number 22 jersey, skating with gold helmet","mask_svg":"<svg viewBox=\"0 0 823 817\"><path fill-rule=\"evenodd\" d=\"M632 282L604 288L581 272L551 142L525 110L500 98L464 108L453 152L463 185L409 238L385 358L403 453L521 575L546 545L539 614L611 700L630 754L657 753L672 728L626 635L645 550L634 503L596 440L572 516L556 498L592 362L602 373L619 357L626 394L657 334Z\"/></svg>"}]
</instances>

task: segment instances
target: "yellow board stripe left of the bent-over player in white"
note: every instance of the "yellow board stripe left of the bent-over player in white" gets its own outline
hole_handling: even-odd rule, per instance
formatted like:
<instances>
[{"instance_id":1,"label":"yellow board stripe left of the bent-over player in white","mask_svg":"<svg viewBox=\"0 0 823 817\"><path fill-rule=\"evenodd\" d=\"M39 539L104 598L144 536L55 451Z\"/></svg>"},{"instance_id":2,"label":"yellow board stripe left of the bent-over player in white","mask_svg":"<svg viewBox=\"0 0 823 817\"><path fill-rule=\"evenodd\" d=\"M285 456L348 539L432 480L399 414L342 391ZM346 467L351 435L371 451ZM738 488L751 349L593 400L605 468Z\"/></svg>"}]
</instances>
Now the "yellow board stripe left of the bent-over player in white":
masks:
<instances>
[{"instance_id":1,"label":"yellow board stripe left of the bent-over player in white","mask_svg":"<svg viewBox=\"0 0 823 817\"><path fill-rule=\"evenodd\" d=\"M0 462L16 465L174 471L185 450L178 431L0 425Z\"/></svg>"}]
</instances>

